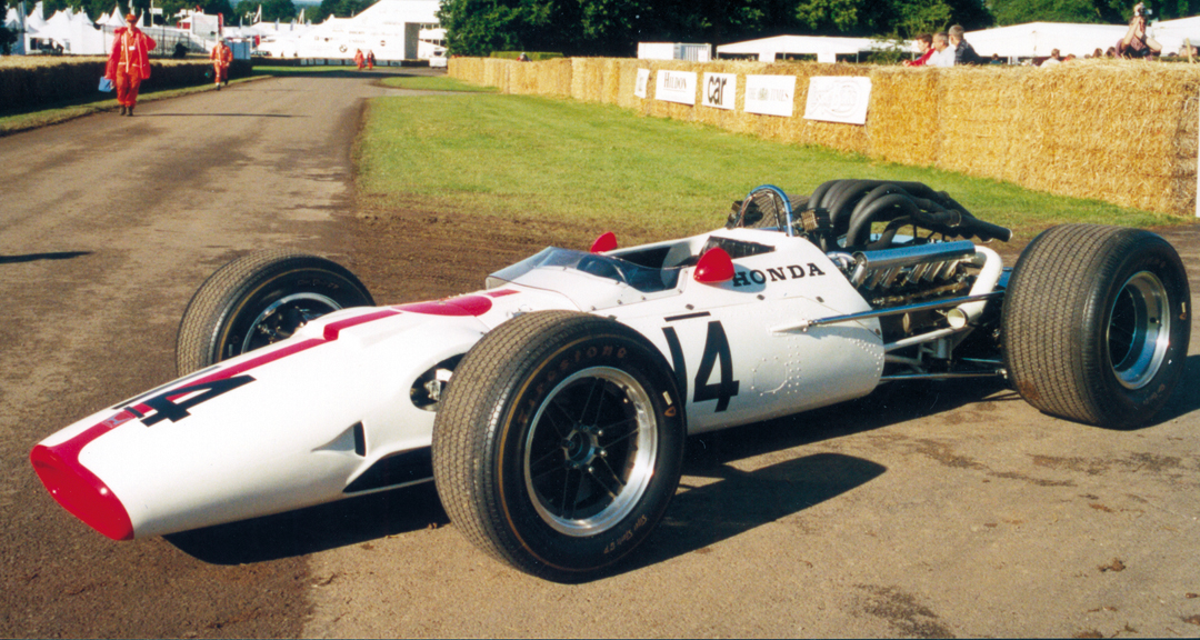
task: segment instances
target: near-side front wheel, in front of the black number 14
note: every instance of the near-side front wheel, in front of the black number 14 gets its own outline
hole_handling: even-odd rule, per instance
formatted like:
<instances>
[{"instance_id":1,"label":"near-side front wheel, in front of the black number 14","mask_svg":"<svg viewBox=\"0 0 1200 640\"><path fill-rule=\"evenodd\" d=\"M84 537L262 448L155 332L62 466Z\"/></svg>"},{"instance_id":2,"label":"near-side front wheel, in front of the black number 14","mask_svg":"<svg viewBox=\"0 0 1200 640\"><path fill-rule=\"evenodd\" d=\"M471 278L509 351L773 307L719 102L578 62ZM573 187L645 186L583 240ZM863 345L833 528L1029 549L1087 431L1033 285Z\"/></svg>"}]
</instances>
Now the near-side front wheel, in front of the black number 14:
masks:
<instances>
[{"instance_id":1,"label":"near-side front wheel, in front of the black number 14","mask_svg":"<svg viewBox=\"0 0 1200 640\"><path fill-rule=\"evenodd\" d=\"M671 367L637 331L527 313L463 358L433 425L433 478L476 546L529 574L594 579L662 518L683 466Z\"/></svg>"}]
</instances>

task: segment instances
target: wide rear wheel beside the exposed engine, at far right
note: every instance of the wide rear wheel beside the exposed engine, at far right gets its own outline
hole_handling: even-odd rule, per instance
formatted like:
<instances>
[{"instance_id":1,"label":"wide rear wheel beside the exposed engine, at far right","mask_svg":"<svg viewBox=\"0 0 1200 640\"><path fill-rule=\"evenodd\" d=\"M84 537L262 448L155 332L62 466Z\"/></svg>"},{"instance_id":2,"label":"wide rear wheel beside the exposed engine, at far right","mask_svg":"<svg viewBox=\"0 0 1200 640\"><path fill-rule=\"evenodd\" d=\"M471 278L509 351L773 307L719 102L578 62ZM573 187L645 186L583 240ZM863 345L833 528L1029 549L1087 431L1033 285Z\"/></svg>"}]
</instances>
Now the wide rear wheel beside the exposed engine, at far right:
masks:
<instances>
[{"instance_id":1,"label":"wide rear wheel beside the exposed engine, at far right","mask_svg":"<svg viewBox=\"0 0 1200 640\"><path fill-rule=\"evenodd\" d=\"M1004 299L1004 361L1036 408L1128 429L1178 383L1190 337L1187 273L1163 238L1054 227L1021 252Z\"/></svg>"}]
</instances>

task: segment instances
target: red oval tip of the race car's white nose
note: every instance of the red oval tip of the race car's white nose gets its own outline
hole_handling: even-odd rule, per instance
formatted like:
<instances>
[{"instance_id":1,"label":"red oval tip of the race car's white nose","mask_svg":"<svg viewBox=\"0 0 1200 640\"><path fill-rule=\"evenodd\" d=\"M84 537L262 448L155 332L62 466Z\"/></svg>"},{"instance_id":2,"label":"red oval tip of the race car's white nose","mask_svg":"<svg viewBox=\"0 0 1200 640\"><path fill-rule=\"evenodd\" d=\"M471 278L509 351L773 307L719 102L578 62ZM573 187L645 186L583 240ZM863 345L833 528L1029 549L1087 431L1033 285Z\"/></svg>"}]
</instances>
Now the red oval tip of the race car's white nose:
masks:
<instances>
[{"instance_id":1,"label":"red oval tip of the race car's white nose","mask_svg":"<svg viewBox=\"0 0 1200 640\"><path fill-rule=\"evenodd\" d=\"M83 465L70 463L54 449L38 444L29 454L46 490L64 509L114 540L132 540L133 525L125 506Z\"/></svg>"}]
</instances>

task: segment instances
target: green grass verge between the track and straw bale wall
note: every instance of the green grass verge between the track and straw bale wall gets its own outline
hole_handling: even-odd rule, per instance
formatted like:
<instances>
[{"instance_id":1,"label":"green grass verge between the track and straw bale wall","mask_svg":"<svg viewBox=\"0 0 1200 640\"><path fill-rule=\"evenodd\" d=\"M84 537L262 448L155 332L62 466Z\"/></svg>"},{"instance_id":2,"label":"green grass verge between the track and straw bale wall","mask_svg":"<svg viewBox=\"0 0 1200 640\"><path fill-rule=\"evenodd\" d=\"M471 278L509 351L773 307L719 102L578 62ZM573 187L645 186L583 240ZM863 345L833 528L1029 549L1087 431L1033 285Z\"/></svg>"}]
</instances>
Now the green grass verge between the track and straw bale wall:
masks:
<instances>
[{"instance_id":1,"label":"green grass verge between the track and straw bale wall","mask_svg":"<svg viewBox=\"0 0 1200 640\"><path fill-rule=\"evenodd\" d=\"M719 226L732 201L761 184L810 193L839 178L925 183L1024 240L1063 222L1187 222L997 180L533 96L376 100L356 154L360 195L392 211L420 201L480 217L574 221L658 238Z\"/></svg>"}]
</instances>

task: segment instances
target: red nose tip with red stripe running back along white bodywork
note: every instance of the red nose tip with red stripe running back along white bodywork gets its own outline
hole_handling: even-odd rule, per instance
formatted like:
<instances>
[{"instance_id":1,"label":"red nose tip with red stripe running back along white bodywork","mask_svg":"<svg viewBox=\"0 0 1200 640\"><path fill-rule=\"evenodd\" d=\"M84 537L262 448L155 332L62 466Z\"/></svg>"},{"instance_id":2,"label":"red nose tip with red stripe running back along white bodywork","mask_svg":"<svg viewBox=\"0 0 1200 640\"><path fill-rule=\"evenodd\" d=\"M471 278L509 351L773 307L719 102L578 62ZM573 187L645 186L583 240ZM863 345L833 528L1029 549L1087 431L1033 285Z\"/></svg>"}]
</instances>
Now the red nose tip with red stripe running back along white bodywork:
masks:
<instances>
[{"instance_id":1,"label":"red nose tip with red stripe running back along white bodywork","mask_svg":"<svg viewBox=\"0 0 1200 640\"><path fill-rule=\"evenodd\" d=\"M373 313L365 313L329 323L325 325L323 337L302 340L294 345L263 353L234 366L214 371L209 376L187 381L187 385L204 384L245 373L288 355L332 342L341 335L342 329L397 315L400 315L398 311L384 309ZM167 397L170 399L169 395ZM154 411L144 403L138 403L131 408L142 414ZM108 489L108 485L92 473L91 469L83 466L79 461L79 454L84 447L91 444L98 437L136 418L137 415L132 411L122 409L100 424L85 429L73 438L50 447L38 444L29 454L29 461L34 465L34 471L37 473L38 479L42 480L46 490L50 492L50 496L62 508L71 512L79 520L83 520L88 526L114 540L133 539L133 525L130 521L128 512L121 504L120 498Z\"/></svg>"}]
</instances>

